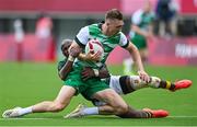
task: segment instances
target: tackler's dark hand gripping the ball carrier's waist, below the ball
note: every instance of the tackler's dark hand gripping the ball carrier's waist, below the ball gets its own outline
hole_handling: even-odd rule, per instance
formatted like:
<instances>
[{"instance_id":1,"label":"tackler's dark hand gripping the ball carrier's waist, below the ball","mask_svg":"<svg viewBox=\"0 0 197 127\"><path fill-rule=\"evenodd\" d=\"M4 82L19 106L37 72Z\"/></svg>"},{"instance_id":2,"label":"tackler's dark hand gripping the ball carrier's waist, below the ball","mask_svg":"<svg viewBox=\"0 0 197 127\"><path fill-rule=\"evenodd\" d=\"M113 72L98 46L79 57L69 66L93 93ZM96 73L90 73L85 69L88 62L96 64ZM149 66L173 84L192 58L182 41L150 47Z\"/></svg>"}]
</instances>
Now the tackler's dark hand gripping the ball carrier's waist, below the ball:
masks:
<instances>
[{"instance_id":1,"label":"tackler's dark hand gripping the ball carrier's waist, below the ball","mask_svg":"<svg viewBox=\"0 0 197 127\"><path fill-rule=\"evenodd\" d=\"M82 72L81 72L82 80L85 81L92 77L95 77L94 70L92 68L89 68L89 67L83 68Z\"/></svg>"}]
</instances>

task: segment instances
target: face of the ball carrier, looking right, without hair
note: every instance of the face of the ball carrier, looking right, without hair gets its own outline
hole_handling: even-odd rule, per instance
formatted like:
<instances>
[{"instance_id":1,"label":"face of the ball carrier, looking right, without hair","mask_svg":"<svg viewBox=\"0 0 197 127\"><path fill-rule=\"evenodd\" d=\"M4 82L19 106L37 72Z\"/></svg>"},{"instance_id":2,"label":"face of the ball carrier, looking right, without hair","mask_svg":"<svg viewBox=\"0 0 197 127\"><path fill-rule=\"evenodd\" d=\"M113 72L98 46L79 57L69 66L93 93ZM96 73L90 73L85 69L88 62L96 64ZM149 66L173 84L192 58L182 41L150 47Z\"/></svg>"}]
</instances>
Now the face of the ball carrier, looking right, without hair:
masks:
<instances>
[{"instance_id":1,"label":"face of the ball carrier, looking right, without hair","mask_svg":"<svg viewBox=\"0 0 197 127\"><path fill-rule=\"evenodd\" d=\"M121 31L124 22L121 20L107 20L106 25L107 34L112 36Z\"/></svg>"}]
</instances>

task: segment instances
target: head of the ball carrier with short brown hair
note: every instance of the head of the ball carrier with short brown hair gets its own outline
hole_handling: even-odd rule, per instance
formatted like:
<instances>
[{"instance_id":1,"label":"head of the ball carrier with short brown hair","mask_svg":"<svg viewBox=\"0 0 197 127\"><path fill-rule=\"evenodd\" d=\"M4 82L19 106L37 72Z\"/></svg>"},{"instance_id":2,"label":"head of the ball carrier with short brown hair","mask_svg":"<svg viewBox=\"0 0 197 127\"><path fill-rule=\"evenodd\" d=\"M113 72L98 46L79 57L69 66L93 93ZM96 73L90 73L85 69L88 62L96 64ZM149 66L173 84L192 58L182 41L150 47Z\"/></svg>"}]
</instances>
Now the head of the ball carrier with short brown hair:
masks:
<instances>
[{"instance_id":1,"label":"head of the ball carrier with short brown hair","mask_svg":"<svg viewBox=\"0 0 197 127\"><path fill-rule=\"evenodd\" d=\"M105 31L107 35L114 35L121 31L124 25L123 14L117 9L112 9L105 14Z\"/></svg>"}]
</instances>

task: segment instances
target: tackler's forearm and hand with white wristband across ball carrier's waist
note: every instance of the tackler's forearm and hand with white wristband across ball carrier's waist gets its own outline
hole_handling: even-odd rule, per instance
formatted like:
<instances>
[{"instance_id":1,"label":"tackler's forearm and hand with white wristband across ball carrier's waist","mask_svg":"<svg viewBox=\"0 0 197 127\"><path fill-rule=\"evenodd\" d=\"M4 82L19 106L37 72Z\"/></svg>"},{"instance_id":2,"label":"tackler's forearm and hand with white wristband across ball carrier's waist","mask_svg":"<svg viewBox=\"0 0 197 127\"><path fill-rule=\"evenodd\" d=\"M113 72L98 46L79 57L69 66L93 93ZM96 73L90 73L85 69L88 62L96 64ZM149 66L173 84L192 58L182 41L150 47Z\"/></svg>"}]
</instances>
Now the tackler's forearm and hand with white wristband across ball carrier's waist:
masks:
<instances>
[{"instance_id":1,"label":"tackler's forearm and hand with white wristband across ball carrier's waist","mask_svg":"<svg viewBox=\"0 0 197 127\"><path fill-rule=\"evenodd\" d=\"M108 78L109 72L104 65L101 69L92 69L92 68L84 68L83 71L81 72L82 79L88 80L93 77L99 77L100 79Z\"/></svg>"}]
</instances>

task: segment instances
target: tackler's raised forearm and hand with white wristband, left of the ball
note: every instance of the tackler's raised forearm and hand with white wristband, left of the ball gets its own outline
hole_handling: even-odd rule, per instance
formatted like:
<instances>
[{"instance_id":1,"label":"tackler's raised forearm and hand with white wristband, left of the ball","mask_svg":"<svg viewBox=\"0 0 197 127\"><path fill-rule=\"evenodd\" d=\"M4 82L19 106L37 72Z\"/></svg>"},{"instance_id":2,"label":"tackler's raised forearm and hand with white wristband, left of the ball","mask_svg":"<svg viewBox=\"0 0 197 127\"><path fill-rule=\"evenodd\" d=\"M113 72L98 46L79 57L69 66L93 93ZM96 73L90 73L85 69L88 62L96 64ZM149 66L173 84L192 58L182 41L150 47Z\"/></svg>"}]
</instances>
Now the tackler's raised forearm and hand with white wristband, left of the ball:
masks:
<instances>
[{"instance_id":1,"label":"tackler's raised forearm and hand with white wristband, left of the ball","mask_svg":"<svg viewBox=\"0 0 197 127\"><path fill-rule=\"evenodd\" d=\"M63 65L63 67L59 70L58 74L59 74L59 78L61 80L65 80L68 76L68 73L71 71L72 69L72 65L73 65L73 61L76 59L76 57L79 56L79 54L81 53L81 48L78 48L76 46L69 48L69 57L68 57L68 60L66 61L66 64Z\"/></svg>"}]
</instances>

